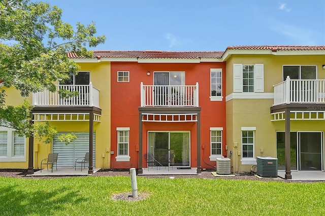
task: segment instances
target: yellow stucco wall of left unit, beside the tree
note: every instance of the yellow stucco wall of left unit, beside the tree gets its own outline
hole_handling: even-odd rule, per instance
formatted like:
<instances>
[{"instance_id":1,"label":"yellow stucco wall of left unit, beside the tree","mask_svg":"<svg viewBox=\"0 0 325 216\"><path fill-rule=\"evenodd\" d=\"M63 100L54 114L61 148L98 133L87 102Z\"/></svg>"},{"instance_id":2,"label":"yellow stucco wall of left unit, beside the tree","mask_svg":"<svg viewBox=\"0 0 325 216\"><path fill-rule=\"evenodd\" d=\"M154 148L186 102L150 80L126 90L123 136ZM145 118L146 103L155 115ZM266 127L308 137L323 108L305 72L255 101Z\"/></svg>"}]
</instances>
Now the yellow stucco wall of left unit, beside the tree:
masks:
<instances>
[{"instance_id":1,"label":"yellow stucco wall of left unit, beside the tree","mask_svg":"<svg viewBox=\"0 0 325 216\"><path fill-rule=\"evenodd\" d=\"M95 136L95 164L96 168L110 167L110 131L111 131L111 66L110 62L99 63L78 63L79 71L90 71L90 82L93 87L100 90L100 108L102 109L101 122L94 122ZM17 90L7 89L7 104L18 105L24 100ZM31 96L27 97L31 103ZM89 122L49 122L54 125L59 132L89 131ZM0 162L0 168L22 168L28 167L28 139L26 140L26 161L25 162ZM34 150L34 168L40 168L41 160L47 158L52 152L52 143L45 144L38 139L34 139L38 150ZM103 157L104 154L104 157Z\"/></svg>"}]
</instances>

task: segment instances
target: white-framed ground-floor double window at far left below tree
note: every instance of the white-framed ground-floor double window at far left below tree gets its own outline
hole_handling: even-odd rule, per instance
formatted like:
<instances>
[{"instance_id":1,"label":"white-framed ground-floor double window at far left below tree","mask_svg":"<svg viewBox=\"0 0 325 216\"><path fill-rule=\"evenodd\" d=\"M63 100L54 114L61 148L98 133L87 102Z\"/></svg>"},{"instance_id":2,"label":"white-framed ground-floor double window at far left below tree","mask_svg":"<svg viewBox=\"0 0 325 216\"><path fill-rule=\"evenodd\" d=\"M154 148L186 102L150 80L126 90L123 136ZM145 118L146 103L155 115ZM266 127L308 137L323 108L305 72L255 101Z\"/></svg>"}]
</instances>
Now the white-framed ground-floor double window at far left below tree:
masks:
<instances>
[{"instance_id":1,"label":"white-framed ground-floor double window at far left below tree","mask_svg":"<svg viewBox=\"0 0 325 216\"><path fill-rule=\"evenodd\" d=\"M26 161L26 138L11 128L0 127L0 162Z\"/></svg>"}]
</instances>

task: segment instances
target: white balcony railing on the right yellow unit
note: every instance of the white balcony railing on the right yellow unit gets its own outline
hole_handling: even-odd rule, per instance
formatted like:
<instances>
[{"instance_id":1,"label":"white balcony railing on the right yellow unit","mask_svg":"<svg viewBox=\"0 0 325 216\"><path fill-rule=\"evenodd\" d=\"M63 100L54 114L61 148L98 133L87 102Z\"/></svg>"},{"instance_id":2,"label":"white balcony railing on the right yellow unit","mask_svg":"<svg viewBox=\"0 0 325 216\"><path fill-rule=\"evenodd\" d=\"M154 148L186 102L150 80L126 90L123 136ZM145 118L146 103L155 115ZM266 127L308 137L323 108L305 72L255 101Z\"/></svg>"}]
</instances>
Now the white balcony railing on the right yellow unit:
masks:
<instances>
[{"instance_id":1,"label":"white balcony railing on the right yellow unit","mask_svg":"<svg viewBox=\"0 0 325 216\"><path fill-rule=\"evenodd\" d=\"M274 104L325 103L325 80L290 80L274 87Z\"/></svg>"}]
</instances>

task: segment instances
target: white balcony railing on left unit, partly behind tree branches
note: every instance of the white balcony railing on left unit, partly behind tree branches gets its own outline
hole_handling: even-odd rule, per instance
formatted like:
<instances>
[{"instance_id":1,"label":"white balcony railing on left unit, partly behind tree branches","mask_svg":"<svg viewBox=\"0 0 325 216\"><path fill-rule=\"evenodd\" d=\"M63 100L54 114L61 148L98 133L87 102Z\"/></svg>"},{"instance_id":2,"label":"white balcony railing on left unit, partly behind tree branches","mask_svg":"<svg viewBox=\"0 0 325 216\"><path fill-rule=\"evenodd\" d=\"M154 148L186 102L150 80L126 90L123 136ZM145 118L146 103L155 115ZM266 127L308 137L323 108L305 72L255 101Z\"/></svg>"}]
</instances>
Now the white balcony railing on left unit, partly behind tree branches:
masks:
<instances>
[{"instance_id":1,"label":"white balcony railing on left unit, partly behind tree branches","mask_svg":"<svg viewBox=\"0 0 325 216\"><path fill-rule=\"evenodd\" d=\"M32 95L35 106L95 106L99 107L99 90L89 85L55 85L55 92L45 90ZM62 97L59 90L78 92L75 97Z\"/></svg>"}]
</instances>

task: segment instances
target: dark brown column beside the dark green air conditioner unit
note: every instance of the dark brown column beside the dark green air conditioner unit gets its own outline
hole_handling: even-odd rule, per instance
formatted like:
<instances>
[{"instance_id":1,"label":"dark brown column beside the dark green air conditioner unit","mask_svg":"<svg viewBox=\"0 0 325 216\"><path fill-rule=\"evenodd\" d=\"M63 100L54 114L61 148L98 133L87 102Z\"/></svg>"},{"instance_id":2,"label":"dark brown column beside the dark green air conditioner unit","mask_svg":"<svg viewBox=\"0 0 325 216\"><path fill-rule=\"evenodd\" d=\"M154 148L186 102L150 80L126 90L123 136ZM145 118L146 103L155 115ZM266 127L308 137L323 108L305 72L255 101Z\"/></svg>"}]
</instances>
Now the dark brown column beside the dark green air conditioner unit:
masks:
<instances>
[{"instance_id":1,"label":"dark brown column beside the dark green air conditioner unit","mask_svg":"<svg viewBox=\"0 0 325 216\"><path fill-rule=\"evenodd\" d=\"M285 179L291 179L291 164L290 164L290 110L285 110L285 134L284 134L284 149L285 149Z\"/></svg>"}]
</instances>

